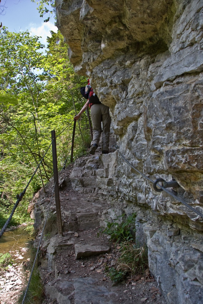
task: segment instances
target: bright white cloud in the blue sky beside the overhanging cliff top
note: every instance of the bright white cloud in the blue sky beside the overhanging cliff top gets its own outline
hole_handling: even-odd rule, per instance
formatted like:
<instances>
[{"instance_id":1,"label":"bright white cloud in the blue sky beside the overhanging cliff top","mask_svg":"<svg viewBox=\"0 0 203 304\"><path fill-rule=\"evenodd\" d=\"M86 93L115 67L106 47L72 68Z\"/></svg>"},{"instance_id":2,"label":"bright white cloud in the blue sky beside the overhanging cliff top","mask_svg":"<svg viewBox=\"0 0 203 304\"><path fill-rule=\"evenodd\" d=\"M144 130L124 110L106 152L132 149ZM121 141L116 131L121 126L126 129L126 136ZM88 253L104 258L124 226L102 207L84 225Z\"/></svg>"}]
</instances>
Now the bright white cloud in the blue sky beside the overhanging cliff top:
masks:
<instances>
[{"instance_id":1,"label":"bright white cloud in the blue sky beside the overhanging cliff top","mask_svg":"<svg viewBox=\"0 0 203 304\"><path fill-rule=\"evenodd\" d=\"M55 33L58 31L58 28L51 21L42 22L40 26L36 26L35 24L31 23L29 26L29 32L31 35L42 37L39 40L45 46L47 46L47 36L51 37L50 31L53 31Z\"/></svg>"}]
</instances>

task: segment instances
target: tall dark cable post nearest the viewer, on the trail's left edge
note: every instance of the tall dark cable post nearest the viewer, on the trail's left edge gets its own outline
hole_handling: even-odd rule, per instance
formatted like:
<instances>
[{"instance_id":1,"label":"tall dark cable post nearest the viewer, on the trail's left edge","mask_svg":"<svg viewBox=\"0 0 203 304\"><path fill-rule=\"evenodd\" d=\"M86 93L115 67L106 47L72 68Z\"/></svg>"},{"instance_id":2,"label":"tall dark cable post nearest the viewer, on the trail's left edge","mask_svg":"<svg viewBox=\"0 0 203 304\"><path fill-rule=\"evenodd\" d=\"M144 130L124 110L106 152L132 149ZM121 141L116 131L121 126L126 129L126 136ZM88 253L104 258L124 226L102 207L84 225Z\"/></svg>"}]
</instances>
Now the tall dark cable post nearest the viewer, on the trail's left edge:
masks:
<instances>
[{"instance_id":1,"label":"tall dark cable post nearest the viewer, on the trail's left edge","mask_svg":"<svg viewBox=\"0 0 203 304\"><path fill-rule=\"evenodd\" d=\"M57 155L56 155L56 133L55 130L51 131L52 140L52 157L53 157L53 171L54 171L54 192L55 192L55 202L56 202L56 217L58 234L63 236L62 220L61 220L61 206L59 198L59 188L58 188L58 165L57 165Z\"/></svg>"}]
</instances>

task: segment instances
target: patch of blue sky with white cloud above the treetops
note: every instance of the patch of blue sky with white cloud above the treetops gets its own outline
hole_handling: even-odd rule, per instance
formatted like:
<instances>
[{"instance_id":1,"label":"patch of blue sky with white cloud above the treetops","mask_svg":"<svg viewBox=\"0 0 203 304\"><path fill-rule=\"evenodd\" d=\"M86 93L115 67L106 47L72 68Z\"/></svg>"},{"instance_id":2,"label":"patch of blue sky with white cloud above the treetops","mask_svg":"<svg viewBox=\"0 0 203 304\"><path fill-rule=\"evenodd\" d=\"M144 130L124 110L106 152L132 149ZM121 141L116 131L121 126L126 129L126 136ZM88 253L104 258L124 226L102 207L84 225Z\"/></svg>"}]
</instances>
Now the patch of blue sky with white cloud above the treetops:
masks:
<instances>
[{"instance_id":1,"label":"patch of blue sky with white cloud above the treetops","mask_svg":"<svg viewBox=\"0 0 203 304\"><path fill-rule=\"evenodd\" d=\"M0 23L8 27L10 32L26 31L27 29L32 35L42 36L40 42L46 45L46 38L50 35L50 30L57 32L54 26L54 16L49 22L44 22L48 16L40 18L37 10L37 3L31 0L2 0L5 11L0 15Z\"/></svg>"}]
</instances>

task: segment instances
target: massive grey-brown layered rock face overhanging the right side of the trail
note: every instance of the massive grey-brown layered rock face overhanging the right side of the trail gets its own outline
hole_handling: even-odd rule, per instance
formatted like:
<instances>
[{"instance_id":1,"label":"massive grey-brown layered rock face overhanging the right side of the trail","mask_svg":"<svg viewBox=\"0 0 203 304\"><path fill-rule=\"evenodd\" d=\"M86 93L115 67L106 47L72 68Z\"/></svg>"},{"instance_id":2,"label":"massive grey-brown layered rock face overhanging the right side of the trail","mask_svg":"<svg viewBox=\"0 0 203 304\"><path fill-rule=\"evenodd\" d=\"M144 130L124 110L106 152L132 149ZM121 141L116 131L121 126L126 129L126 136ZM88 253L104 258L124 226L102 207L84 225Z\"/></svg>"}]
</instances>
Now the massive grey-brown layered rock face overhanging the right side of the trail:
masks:
<instances>
[{"instance_id":1,"label":"massive grey-brown layered rock face overhanging the right side of the trail","mask_svg":"<svg viewBox=\"0 0 203 304\"><path fill-rule=\"evenodd\" d=\"M174 190L201 213L202 6L201 0L56 0L69 58L110 107L119 152L152 180L175 179ZM94 175L76 163L74 187L137 211L167 302L202 303L203 219L156 192L117 152L101 163Z\"/></svg>"}]
</instances>

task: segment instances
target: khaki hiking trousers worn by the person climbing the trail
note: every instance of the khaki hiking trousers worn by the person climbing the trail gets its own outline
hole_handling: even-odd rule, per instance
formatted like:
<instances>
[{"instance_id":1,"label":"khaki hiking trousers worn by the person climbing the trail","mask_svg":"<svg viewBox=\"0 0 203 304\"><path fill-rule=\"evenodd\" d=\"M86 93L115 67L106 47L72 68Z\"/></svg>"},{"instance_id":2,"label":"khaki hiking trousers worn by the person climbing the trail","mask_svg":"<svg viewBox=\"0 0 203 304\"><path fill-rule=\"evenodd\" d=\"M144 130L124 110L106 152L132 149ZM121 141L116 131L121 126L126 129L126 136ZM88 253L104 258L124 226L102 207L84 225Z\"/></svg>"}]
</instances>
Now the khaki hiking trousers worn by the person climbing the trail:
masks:
<instances>
[{"instance_id":1,"label":"khaki hiking trousers worn by the person climbing the trail","mask_svg":"<svg viewBox=\"0 0 203 304\"><path fill-rule=\"evenodd\" d=\"M93 140L91 146L96 143L99 144L100 136L102 133L102 150L109 150L109 136L110 136L110 124L111 117L109 115L109 107L102 103L96 103L91 106L90 109L92 125L93 125ZM103 131L101 128L101 122L103 123Z\"/></svg>"}]
</instances>

